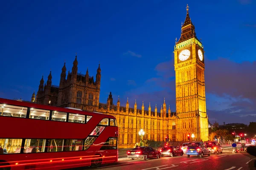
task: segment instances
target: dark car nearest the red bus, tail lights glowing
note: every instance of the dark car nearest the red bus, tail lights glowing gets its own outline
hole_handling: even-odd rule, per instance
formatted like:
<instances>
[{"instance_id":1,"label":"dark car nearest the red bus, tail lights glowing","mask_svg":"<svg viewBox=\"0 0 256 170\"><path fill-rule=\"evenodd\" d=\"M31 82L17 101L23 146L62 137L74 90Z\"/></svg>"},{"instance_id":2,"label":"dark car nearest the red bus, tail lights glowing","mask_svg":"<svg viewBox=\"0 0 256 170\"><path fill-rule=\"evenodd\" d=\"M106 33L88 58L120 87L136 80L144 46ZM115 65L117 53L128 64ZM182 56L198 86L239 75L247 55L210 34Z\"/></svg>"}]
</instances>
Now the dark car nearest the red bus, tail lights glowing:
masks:
<instances>
[{"instance_id":1,"label":"dark car nearest the red bus, tail lights glowing","mask_svg":"<svg viewBox=\"0 0 256 170\"><path fill-rule=\"evenodd\" d=\"M148 158L160 158L161 153L152 147L135 147L133 150L127 151L127 157L134 160L140 158L147 160Z\"/></svg>"}]
</instances>

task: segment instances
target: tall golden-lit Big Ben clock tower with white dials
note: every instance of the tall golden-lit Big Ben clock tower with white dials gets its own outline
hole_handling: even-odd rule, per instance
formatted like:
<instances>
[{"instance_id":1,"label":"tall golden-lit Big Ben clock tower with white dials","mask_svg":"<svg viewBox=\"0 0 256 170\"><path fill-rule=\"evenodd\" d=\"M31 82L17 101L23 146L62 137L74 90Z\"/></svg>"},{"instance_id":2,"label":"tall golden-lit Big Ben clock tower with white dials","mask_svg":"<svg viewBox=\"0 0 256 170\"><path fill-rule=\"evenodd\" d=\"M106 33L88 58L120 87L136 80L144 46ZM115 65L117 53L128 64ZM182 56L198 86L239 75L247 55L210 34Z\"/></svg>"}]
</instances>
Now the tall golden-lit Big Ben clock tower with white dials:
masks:
<instances>
[{"instance_id":1,"label":"tall golden-lit Big Ben clock tower with white dials","mask_svg":"<svg viewBox=\"0 0 256 170\"><path fill-rule=\"evenodd\" d=\"M186 7L186 19L181 26L180 39L175 44L174 61L176 77L176 136L178 141L208 140L204 85L204 48L195 34L195 26Z\"/></svg>"}]
</instances>

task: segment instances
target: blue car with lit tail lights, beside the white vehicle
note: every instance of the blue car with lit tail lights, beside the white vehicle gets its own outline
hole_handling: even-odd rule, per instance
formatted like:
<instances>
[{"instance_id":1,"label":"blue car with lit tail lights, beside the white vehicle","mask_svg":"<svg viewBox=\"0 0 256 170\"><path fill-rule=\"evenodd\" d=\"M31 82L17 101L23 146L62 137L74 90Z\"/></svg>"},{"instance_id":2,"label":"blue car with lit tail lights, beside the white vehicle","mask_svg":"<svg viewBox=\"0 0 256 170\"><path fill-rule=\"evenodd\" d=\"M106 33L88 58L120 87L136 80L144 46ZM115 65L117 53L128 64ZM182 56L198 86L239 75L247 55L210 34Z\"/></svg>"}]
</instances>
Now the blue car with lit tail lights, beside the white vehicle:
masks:
<instances>
[{"instance_id":1,"label":"blue car with lit tail lights, beside the white vehicle","mask_svg":"<svg viewBox=\"0 0 256 170\"><path fill-rule=\"evenodd\" d=\"M204 142L189 142L186 155L187 157L196 155L202 158L204 155L210 156L210 151L207 149L207 145Z\"/></svg>"}]
</instances>

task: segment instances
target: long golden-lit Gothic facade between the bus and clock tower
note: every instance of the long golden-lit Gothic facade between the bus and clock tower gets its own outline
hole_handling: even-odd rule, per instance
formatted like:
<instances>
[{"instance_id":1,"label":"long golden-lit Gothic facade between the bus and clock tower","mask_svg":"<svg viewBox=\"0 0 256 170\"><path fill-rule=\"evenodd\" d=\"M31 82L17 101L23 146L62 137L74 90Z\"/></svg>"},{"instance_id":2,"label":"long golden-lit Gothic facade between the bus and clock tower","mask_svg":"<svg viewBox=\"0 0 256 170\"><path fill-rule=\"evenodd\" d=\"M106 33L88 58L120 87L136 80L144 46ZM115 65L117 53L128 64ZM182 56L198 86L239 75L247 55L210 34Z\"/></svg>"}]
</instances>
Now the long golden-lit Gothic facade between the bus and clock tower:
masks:
<instances>
[{"instance_id":1,"label":"long golden-lit Gothic facade between the bus and clock tower","mask_svg":"<svg viewBox=\"0 0 256 170\"><path fill-rule=\"evenodd\" d=\"M119 127L119 148L131 148L140 142L138 134L140 129L143 129L145 136L143 139L154 141L165 141L168 136L170 141L177 141L176 137L176 114L170 110L167 112L166 102L164 100L161 105L160 113L157 112L157 106L151 111L149 103L148 111L145 111L144 103L142 102L141 110L137 108L135 100L134 108L129 108L127 99L126 107L120 106L118 99L117 105L111 105L112 95L110 93L107 104L100 104L99 112L116 117Z\"/></svg>"}]
</instances>

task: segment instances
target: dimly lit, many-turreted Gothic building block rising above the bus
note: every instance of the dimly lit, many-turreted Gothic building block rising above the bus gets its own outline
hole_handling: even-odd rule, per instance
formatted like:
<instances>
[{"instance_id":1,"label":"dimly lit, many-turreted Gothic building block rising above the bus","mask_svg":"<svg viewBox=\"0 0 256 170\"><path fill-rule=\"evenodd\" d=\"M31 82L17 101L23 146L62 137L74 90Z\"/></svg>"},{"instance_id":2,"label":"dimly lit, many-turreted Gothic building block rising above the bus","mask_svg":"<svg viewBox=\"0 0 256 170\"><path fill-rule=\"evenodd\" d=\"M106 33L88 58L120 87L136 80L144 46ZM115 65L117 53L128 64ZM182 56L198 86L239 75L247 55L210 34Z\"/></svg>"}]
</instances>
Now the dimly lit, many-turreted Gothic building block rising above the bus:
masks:
<instances>
[{"instance_id":1,"label":"dimly lit, many-turreted Gothic building block rising above the bus","mask_svg":"<svg viewBox=\"0 0 256 170\"><path fill-rule=\"evenodd\" d=\"M66 65L61 71L59 86L52 85L52 74L50 72L47 83L44 77L40 81L36 97L32 95L31 101L38 104L53 105L58 107L79 108L84 111L96 111L99 108L99 92L101 69L97 69L96 81L89 76L88 68L86 74L79 74L77 56L73 62L72 72L68 71L66 77Z\"/></svg>"}]
</instances>

